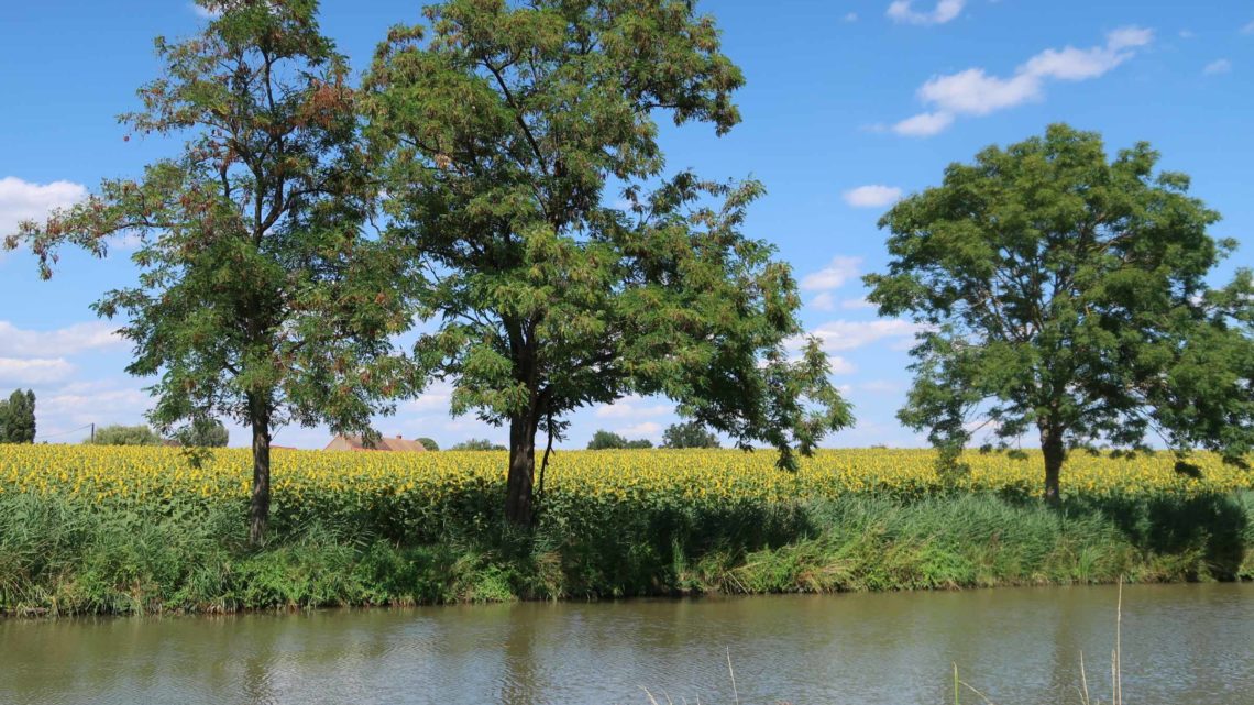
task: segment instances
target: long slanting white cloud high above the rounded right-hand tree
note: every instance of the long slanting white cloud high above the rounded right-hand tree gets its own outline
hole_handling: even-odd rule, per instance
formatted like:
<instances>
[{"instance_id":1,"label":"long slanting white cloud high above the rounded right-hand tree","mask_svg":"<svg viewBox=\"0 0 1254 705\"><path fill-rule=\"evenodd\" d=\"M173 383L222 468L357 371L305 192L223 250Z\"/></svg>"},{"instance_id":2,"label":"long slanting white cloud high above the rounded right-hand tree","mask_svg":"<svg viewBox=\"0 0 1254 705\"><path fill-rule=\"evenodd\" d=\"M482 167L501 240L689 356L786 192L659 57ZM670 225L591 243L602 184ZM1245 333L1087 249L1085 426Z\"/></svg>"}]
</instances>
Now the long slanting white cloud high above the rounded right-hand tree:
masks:
<instances>
[{"instance_id":1,"label":"long slanting white cloud high above the rounded right-hand tree","mask_svg":"<svg viewBox=\"0 0 1254 705\"><path fill-rule=\"evenodd\" d=\"M1040 100L1051 80L1078 82L1105 75L1136 50L1154 40L1152 30L1126 26L1106 35L1106 43L1088 49L1046 49L1020 65L1008 78L973 68L929 79L918 98L930 109L895 125L908 137L930 137L953 124L959 115L987 115L1027 102Z\"/></svg>"}]
</instances>

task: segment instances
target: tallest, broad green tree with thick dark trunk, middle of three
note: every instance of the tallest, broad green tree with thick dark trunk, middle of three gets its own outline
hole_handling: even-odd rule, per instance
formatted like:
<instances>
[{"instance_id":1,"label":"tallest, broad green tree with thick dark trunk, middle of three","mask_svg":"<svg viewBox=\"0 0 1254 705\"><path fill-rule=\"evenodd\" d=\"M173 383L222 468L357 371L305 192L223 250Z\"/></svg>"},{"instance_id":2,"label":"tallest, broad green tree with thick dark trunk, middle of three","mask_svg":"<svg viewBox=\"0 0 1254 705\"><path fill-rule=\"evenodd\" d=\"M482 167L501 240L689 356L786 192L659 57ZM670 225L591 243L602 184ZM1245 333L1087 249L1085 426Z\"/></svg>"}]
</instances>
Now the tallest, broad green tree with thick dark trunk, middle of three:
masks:
<instances>
[{"instance_id":1,"label":"tallest, broad green tree with thick dark trunk, middle of three","mask_svg":"<svg viewBox=\"0 0 1254 705\"><path fill-rule=\"evenodd\" d=\"M662 394L794 462L849 421L800 334L789 267L741 233L757 183L663 178L655 118L740 114L740 70L693 3L450 0L396 28L366 80L395 231L429 265L416 347L453 411L509 427L507 517L530 521L535 437ZM621 197L607 193L611 179ZM607 206L607 201L617 201Z\"/></svg>"}]
</instances>

